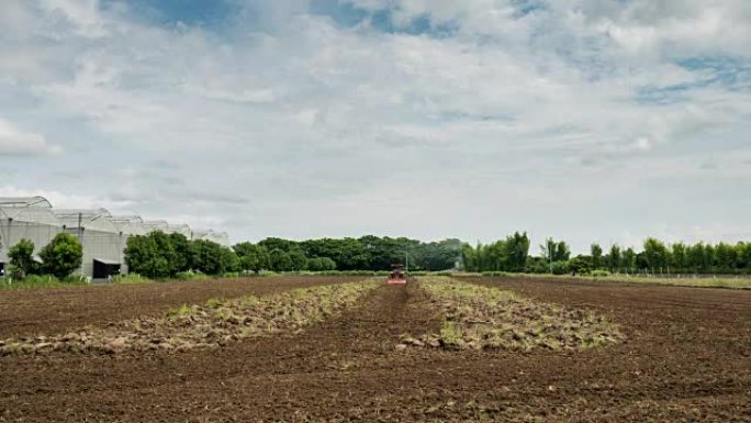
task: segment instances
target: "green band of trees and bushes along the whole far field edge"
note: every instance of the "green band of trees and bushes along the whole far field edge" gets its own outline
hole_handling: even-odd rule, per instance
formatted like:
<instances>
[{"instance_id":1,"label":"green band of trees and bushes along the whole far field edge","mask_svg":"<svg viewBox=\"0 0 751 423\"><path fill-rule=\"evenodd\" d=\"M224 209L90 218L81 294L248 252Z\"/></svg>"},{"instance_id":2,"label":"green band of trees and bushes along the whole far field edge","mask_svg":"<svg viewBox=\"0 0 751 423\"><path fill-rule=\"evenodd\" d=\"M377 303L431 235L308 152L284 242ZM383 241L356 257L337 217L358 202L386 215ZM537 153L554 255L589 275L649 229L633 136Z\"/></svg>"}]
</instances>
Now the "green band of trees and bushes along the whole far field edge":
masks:
<instances>
[{"instance_id":1,"label":"green band of trees and bushes along the whole far field edge","mask_svg":"<svg viewBox=\"0 0 751 423\"><path fill-rule=\"evenodd\" d=\"M749 275L751 243L665 244L648 238L643 248L607 249L592 244L590 254L573 256L564 241L548 238L531 254L526 233L516 232L486 245L459 240L424 243L405 237L321 238L291 241L270 237L225 247L210 241L189 241L181 234L155 231L132 236L124 251L131 276L124 281L195 279L208 276L316 272L373 275L392 264L407 264L413 275L425 271L609 275ZM34 244L22 240L10 248L8 274L15 281L77 281L82 248L70 234L59 234L34 256ZM143 278L143 279L142 279ZM40 282L41 283L41 282Z\"/></svg>"}]
</instances>

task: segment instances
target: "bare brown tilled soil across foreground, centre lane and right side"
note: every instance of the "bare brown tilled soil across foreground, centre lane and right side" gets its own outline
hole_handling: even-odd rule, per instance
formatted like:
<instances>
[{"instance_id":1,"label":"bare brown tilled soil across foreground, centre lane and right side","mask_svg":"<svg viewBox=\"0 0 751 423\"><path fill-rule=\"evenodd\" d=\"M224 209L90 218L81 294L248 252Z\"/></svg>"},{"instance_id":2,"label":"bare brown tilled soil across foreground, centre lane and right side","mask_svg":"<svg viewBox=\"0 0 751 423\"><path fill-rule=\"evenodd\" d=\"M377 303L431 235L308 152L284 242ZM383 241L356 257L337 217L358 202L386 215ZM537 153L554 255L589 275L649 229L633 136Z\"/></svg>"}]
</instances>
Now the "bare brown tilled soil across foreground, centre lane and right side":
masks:
<instances>
[{"instance_id":1,"label":"bare brown tilled soil across foreground, centre lane and right side","mask_svg":"<svg viewBox=\"0 0 751 423\"><path fill-rule=\"evenodd\" d=\"M435 331L440 316L416 285L383 286L296 336L177 355L1 358L0 421L751 422L751 292L473 281L597 311L628 341L396 352L401 334Z\"/></svg>"}]
</instances>

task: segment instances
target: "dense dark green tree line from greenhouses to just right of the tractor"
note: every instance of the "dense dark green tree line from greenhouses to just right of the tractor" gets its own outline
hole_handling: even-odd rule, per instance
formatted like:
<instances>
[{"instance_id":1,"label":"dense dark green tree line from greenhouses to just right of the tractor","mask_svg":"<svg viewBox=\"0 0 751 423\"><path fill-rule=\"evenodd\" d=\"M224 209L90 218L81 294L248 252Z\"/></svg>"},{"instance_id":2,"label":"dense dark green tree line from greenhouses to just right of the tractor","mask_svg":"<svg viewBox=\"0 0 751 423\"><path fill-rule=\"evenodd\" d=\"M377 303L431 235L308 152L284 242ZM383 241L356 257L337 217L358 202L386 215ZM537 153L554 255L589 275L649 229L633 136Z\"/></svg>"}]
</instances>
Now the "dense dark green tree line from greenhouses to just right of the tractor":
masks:
<instances>
[{"instance_id":1,"label":"dense dark green tree line from greenhouses to just right of the tractor","mask_svg":"<svg viewBox=\"0 0 751 423\"><path fill-rule=\"evenodd\" d=\"M459 240L423 243L373 235L307 241L269 237L228 248L156 231L130 237L124 255L131 272L149 278L175 278L187 271L206 275L266 270L378 271L388 270L393 264L408 264L413 270L446 270L457 267L460 248Z\"/></svg>"}]
</instances>

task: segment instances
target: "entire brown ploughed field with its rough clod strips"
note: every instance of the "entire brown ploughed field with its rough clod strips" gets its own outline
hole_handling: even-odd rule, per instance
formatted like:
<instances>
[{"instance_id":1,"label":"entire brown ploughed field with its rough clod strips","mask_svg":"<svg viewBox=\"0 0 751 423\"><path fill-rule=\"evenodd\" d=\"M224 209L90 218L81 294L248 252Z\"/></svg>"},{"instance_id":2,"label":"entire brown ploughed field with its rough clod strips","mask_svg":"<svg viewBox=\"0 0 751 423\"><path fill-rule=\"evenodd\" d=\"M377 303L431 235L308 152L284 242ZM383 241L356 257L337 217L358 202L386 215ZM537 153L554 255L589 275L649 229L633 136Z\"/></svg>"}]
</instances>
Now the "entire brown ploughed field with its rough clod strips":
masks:
<instances>
[{"instance_id":1,"label":"entire brown ploughed field with its rough clod strips","mask_svg":"<svg viewBox=\"0 0 751 423\"><path fill-rule=\"evenodd\" d=\"M7 354L0 421L751 421L751 291L517 277L4 291L0 338L226 323L248 298L289 310L322 292L341 299L323 319L215 347Z\"/></svg>"}]
</instances>

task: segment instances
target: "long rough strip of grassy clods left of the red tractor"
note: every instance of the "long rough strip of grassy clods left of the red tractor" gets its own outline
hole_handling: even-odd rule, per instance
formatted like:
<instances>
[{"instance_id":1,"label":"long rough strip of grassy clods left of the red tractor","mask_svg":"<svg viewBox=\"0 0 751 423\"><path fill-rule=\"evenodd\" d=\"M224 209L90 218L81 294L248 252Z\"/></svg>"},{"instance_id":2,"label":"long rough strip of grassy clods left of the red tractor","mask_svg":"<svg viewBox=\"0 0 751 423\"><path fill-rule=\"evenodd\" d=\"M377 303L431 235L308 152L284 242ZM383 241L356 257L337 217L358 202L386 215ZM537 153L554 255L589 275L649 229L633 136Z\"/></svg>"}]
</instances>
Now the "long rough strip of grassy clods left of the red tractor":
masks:
<instances>
[{"instance_id":1,"label":"long rough strip of grassy clods left of the red tractor","mask_svg":"<svg viewBox=\"0 0 751 423\"><path fill-rule=\"evenodd\" d=\"M0 356L14 354L186 352L259 336L293 335L354 305L382 282L366 280L295 289L269 297L212 299L160 316L86 327L53 336L0 341Z\"/></svg>"}]
</instances>

